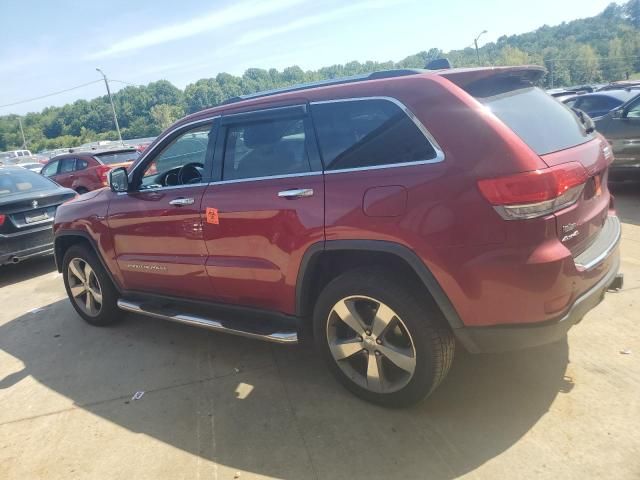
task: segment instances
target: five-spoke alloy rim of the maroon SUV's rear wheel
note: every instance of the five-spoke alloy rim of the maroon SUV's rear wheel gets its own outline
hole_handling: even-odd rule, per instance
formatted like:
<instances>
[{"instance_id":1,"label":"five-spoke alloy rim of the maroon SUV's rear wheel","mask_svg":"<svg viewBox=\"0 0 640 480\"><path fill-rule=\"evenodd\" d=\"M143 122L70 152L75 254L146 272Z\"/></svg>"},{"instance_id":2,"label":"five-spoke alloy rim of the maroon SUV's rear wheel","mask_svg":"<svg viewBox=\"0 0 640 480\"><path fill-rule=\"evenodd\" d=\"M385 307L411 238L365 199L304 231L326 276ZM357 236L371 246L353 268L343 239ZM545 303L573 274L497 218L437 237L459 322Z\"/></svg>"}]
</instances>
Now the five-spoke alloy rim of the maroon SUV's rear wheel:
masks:
<instances>
[{"instance_id":1,"label":"five-spoke alloy rim of the maroon SUV's rear wheel","mask_svg":"<svg viewBox=\"0 0 640 480\"><path fill-rule=\"evenodd\" d=\"M405 387L416 369L416 349L402 319L365 296L338 301L327 321L333 359L353 382L374 393Z\"/></svg>"}]
</instances>

